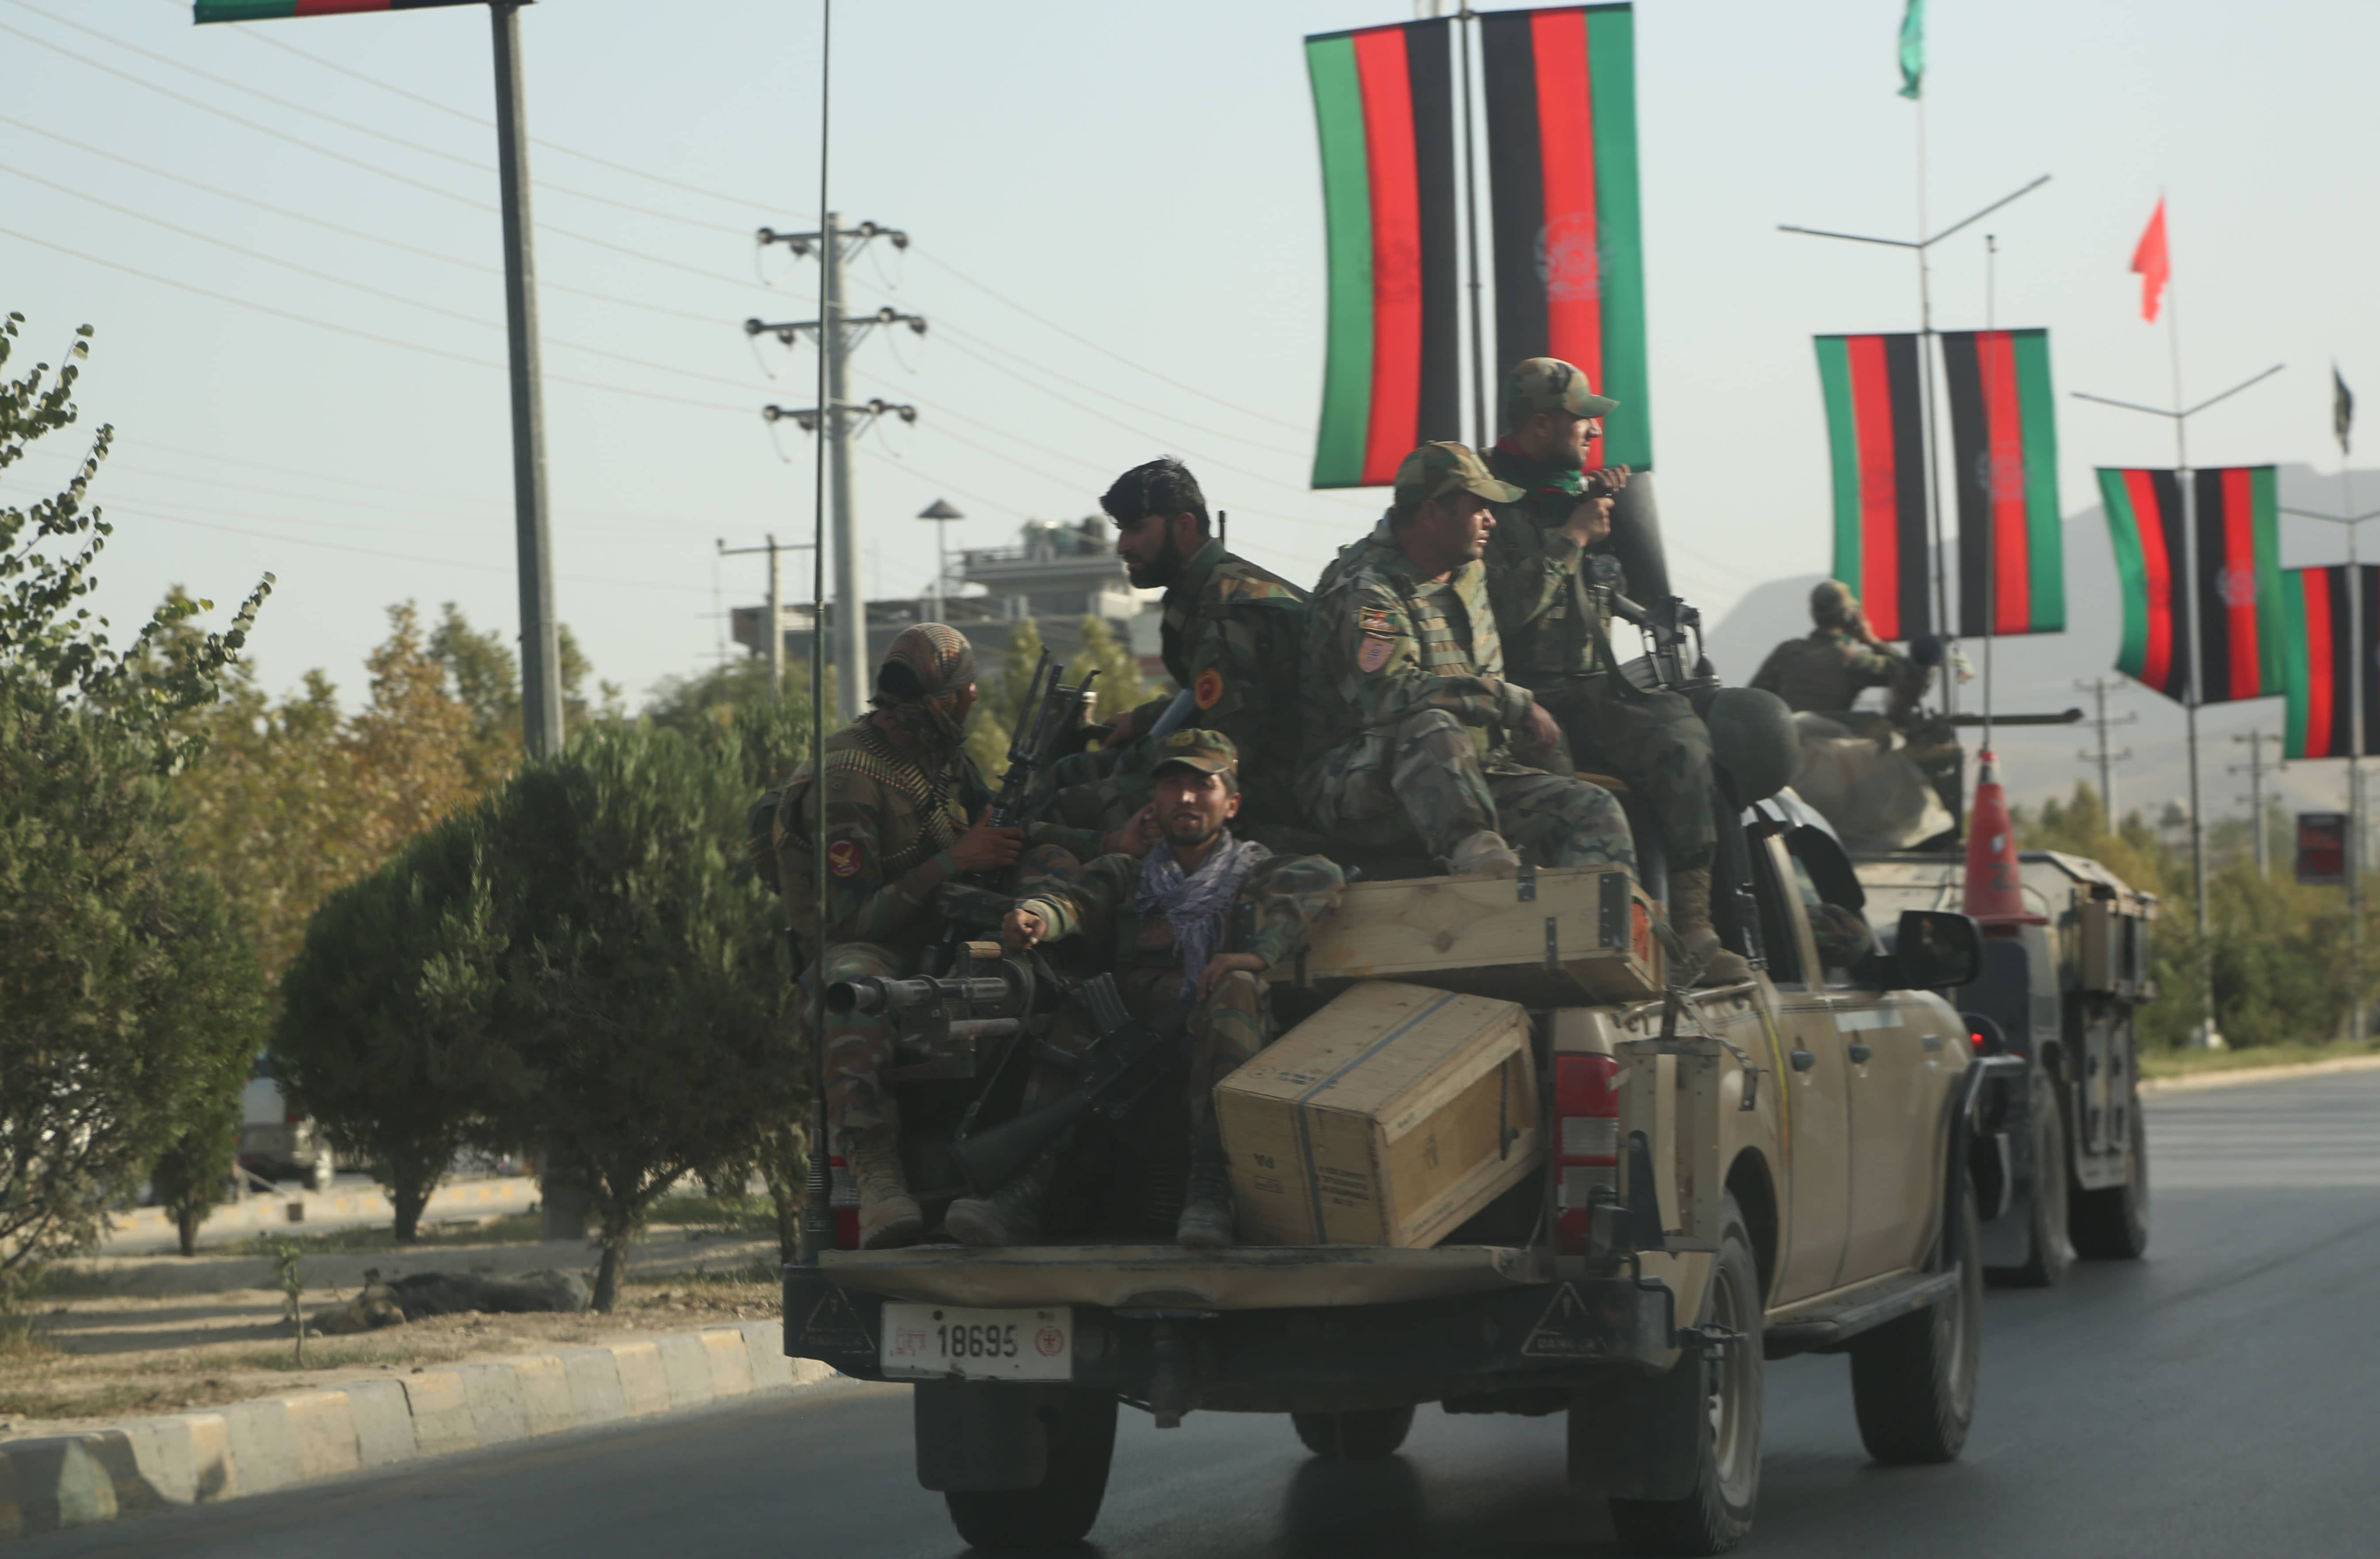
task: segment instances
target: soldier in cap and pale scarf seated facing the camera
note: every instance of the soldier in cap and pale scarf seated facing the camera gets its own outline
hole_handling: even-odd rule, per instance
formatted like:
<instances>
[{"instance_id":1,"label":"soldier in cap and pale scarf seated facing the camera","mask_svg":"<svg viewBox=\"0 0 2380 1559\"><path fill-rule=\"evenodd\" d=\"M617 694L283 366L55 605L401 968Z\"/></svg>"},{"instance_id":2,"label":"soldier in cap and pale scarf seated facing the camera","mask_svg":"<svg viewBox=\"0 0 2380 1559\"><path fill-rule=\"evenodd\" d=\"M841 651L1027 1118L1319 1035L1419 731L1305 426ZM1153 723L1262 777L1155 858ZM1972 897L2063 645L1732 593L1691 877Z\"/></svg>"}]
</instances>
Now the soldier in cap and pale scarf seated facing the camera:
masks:
<instances>
[{"instance_id":1,"label":"soldier in cap and pale scarf seated facing the camera","mask_svg":"<svg viewBox=\"0 0 2380 1559\"><path fill-rule=\"evenodd\" d=\"M1035 850L1002 935L1012 947L1069 935L1104 945L1133 1014L1185 1026L1190 1195L1176 1240L1219 1250L1233 1242L1233 1216L1214 1085L1271 1043L1264 973L1338 912L1347 878L1319 854L1273 854L1230 835L1240 771L1221 731L1166 735L1154 783L1164 847L1147 862L1109 854L1088 866Z\"/></svg>"}]
</instances>

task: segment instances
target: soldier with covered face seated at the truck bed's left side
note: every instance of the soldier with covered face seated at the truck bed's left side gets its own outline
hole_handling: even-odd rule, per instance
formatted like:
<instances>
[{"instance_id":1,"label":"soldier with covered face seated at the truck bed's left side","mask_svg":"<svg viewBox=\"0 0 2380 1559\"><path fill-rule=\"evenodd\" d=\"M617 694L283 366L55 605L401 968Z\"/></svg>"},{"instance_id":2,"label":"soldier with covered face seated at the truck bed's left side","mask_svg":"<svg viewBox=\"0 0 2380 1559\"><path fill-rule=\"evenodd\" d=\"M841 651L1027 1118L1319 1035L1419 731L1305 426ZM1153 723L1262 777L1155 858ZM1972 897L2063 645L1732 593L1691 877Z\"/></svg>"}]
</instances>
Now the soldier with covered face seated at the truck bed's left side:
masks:
<instances>
[{"instance_id":1,"label":"soldier with covered face seated at the truck bed's left side","mask_svg":"<svg viewBox=\"0 0 2380 1559\"><path fill-rule=\"evenodd\" d=\"M826 738L823 914L812 888L821 838L814 769L802 764L778 800L778 888L812 954L807 981L916 973L942 931L935 890L973 871L1009 866L1026 845L1085 854L1104 845L1145 850L1130 831L1102 838L1050 824L990 828L983 821L990 790L959 747L959 726L976 702L976 652L957 628L904 628L876 674L871 702L871 714ZM859 1183L859 1231L869 1250L909 1245L926 1231L900 1164L900 1109L883 1085L890 1064L885 1014L854 1012L828 1023L826 1119L835 1152Z\"/></svg>"}]
</instances>

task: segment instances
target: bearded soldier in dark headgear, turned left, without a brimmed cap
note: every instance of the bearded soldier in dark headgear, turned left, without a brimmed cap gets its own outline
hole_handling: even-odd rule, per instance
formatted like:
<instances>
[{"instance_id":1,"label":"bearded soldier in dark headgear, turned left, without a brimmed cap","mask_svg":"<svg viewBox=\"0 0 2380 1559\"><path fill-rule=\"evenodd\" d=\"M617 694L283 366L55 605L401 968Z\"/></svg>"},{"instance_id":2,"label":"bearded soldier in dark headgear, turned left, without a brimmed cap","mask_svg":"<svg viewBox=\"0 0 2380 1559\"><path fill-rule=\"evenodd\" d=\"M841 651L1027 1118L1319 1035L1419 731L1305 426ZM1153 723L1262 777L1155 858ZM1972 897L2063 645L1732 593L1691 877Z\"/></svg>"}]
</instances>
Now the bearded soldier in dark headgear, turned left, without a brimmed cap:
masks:
<instances>
[{"instance_id":1,"label":"bearded soldier in dark headgear, turned left, without a brimmed cap","mask_svg":"<svg viewBox=\"0 0 2380 1559\"><path fill-rule=\"evenodd\" d=\"M1307 593L1209 536L1207 497L1171 455L1119 476L1100 507L1116 521L1116 557L1133 586L1166 593L1166 674L1188 693L1190 719L1228 735L1245 759L1242 824L1295 821L1297 695L1280 669L1297 664ZM1035 816L1123 826L1150 802L1157 755L1147 733L1171 702L1126 709L1100 752L1052 764Z\"/></svg>"}]
</instances>

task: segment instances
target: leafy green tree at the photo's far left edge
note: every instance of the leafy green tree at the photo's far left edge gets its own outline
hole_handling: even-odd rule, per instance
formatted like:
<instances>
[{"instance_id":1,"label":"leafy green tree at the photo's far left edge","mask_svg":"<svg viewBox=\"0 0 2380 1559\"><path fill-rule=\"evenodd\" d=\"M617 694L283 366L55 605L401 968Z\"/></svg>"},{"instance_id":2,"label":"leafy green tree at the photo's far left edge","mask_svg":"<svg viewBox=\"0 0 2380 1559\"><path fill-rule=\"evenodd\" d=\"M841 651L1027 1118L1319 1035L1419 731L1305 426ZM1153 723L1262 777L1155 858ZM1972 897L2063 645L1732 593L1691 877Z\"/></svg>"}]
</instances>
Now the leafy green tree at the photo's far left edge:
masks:
<instances>
[{"instance_id":1,"label":"leafy green tree at the photo's far left edge","mask_svg":"<svg viewBox=\"0 0 2380 1559\"><path fill-rule=\"evenodd\" d=\"M7 376L0 469L76 421L90 328L57 374ZM88 1247L105 1216L219 1107L257 1047L262 976L221 893L178 847L174 776L271 576L226 633L159 647L207 602L169 602L117 650L90 612L114 528L86 507L112 428L57 495L0 507L0 1290Z\"/></svg>"}]
</instances>

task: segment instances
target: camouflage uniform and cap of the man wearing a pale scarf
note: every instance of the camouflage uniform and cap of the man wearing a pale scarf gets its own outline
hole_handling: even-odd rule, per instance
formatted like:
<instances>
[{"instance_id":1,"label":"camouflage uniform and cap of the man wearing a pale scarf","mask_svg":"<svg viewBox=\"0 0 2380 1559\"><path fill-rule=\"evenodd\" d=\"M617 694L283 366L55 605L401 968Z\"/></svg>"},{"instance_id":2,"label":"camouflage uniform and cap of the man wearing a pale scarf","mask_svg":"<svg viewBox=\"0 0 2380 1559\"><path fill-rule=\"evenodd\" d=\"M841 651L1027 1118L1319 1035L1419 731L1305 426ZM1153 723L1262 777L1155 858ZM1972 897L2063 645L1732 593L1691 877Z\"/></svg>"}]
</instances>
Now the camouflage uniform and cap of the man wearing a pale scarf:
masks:
<instances>
[{"instance_id":1,"label":"camouflage uniform and cap of the man wearing a pale scarf","mask_svg":"<svg viewBox=\"0 0 2380 1559\"><path fill-rule=\"evenodd\" d=\"M1214 731L1180 731L1166 740L1164 762L1178 762L1173 755L1183 747L1230 752L1228 738ZM1221 843L1228 845L1230 833ZM1223 916L1214 952L1252 952L1266 969L1280 969L1338 912L1347 878L1321 854L1271 854L1264 845L1250 850L1259 859ZM1200 971L1183 969L1171 921L1142 902L1142 869L1145 862L1130 854L1102 854L1083 864L1066 850L1042 845L1019 871L1016 907L1047 921L1047 940L1078 935L1104 947L1107 957L1100 962L1114 969L1123 1002L1138 1019L1154 1023L1183 1000L1185 983L1195 985ZM1216 981L1207 1000L1190 1007L1185 1035L1192 1140L1214 1138L1214 1085L1273 1038L1266 981L1245 969Z\"/></svg>"}]
</instances>

